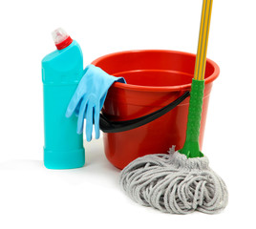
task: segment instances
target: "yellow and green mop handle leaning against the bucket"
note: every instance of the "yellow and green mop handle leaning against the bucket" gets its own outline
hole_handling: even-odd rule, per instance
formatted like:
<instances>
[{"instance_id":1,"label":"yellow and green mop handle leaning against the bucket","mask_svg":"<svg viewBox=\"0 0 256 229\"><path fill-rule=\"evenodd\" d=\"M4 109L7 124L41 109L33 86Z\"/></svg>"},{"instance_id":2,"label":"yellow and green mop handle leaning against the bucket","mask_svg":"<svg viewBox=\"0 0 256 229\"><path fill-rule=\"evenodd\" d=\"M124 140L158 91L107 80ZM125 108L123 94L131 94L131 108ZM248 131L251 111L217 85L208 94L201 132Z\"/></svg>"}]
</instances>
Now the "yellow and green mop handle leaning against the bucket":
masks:
<instances>
[{"instance_id":1,"label":"yellow and green mop handle leaning against the bucket","mask_svg":"<svg viewBox=\"0 0 256 229\"><path fill-rule=\"evenodd\" d=\"M199 135L203 108L204 73L206 65L206 52L210 29L210 18L213 0L203 0L201 28L199 35L198 52L194 78L192 79L189 109L187 116L186 138L180 153L189 157L202 157L200 151Z\"/></svg>"}]
</instances>

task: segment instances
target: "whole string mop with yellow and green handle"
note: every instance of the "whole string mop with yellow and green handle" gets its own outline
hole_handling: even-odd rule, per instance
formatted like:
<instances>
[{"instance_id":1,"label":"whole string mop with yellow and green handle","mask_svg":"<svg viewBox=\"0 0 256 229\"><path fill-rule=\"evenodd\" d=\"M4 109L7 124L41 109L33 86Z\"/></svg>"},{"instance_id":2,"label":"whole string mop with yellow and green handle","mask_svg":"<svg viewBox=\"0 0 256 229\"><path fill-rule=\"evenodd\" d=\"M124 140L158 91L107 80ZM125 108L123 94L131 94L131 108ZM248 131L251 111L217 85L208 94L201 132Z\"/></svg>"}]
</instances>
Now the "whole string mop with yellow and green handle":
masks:
<instances>
[{"instance_id":1,"label":"whole string mop with yellow and green handle","mask_svg":"<svg viewBox=\"0 0 256 229\"><path fill-rule=\"evenodd\" d=\"M213 0L203 0L203 11L194 78L189 101L186 139L183 148L169 155L137 158L121 172L125 193L144 206L161 212L215 214L227 204L224 180L209 167L200 151L199 135L203 106L204 73Z\"/></svg>"}]
</instances>

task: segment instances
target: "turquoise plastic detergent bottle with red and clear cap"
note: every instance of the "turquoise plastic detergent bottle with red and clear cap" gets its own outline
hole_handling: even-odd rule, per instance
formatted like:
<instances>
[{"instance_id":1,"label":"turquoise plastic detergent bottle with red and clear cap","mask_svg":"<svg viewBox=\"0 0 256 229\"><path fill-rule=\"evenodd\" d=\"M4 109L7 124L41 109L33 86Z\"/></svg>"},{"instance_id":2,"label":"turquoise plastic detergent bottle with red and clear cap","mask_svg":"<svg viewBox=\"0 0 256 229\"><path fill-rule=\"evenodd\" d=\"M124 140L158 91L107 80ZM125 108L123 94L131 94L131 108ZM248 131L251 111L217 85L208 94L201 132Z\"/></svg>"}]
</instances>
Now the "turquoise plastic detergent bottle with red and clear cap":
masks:
<instances>
[{"instance_id":1,"label":"turquoise plastic detergent bottle with red and clear cap","mask_svg":"<svg viewBox=\"0 0 256 229\"><path fill-rule=\"evenodd\" d=\"M82 77L83 55L78 43L65 31L53 31L56 51L42 60L44 94L44 164L49 169L73 169L84 165L83 135L76 134L77 117L65 116Z\"/></svg>"}]
</instances>

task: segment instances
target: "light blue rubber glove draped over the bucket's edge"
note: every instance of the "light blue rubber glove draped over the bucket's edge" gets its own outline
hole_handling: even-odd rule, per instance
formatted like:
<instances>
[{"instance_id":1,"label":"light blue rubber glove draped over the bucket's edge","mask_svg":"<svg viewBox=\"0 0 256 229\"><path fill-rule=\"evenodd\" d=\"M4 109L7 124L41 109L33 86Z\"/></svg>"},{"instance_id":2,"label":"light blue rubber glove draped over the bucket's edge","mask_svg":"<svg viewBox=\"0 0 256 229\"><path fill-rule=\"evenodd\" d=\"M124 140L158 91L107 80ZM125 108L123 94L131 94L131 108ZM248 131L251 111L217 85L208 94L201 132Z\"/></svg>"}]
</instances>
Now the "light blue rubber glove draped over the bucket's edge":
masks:
<instances>
[{"instance_id":1,"label":"light blue rubber glove draped over the bucket's edge","mask_svg":"<svg viewBox=\"0 0 256 229\"><path fill-rule=\"evenodd\" d=\"M105 73L94 65L88 65L84 70L75 94L68 106L66 116L78 116L77 134L83 133L84 118L86 118L86 139L92 140L93 124L95 124L96 139L99 137L99 113L111 85L115 82L126 83L122 77Z\"/></svg>"}]
</instances>

